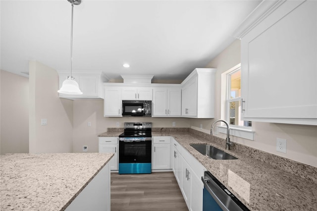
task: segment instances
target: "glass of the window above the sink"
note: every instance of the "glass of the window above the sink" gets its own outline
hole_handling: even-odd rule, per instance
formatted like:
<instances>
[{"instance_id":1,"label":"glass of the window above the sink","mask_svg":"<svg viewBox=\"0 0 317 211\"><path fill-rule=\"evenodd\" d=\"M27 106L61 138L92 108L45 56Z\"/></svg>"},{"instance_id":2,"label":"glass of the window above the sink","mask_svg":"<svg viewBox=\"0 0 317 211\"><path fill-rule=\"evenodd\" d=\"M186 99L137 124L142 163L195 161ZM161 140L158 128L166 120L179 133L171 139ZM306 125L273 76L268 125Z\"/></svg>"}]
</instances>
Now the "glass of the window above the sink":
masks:
<instances>
[{"instance_id":1,"label":"glass of the window above the sink","mask_svg":"<svg viewBox=\"0 0 317 211\"><path fill-rule=\"evenodd\" d=\"M226 120L230 125L251 127L251 121L241 120L241 68L227 73Z\"/></svg>"}]
</instances>

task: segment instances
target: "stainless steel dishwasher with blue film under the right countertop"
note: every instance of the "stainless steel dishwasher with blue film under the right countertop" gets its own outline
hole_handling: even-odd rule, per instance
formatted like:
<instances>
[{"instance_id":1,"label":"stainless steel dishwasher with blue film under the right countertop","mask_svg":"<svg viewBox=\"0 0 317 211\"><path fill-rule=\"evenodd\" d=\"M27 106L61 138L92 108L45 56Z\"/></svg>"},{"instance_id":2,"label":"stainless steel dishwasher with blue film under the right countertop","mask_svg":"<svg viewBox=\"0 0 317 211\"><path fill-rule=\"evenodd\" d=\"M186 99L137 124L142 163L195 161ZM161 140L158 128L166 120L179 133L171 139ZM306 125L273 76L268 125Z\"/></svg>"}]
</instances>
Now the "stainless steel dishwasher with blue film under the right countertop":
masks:
<instances>
[{"instance_id":1,"label":"stainless steel dishwasher with blue film under the right countertop","mask_svg":"<svg viewBox=\"0 0 317 211\"><path fill-rule=\"evenodd\" d=\"M250 211L209 171L202 177L204 183L203 211Z\"/></svg>"}]
</instances>

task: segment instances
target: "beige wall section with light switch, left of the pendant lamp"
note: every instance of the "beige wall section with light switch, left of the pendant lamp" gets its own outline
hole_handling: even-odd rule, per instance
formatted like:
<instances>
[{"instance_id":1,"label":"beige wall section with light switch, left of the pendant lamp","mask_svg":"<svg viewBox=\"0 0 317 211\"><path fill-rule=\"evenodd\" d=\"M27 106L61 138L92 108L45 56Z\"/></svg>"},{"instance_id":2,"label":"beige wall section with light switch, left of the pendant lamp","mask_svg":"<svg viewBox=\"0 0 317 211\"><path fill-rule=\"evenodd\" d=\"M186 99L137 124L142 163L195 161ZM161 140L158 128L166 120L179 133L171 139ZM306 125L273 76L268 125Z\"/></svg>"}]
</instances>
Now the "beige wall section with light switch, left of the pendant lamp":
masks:
<instances>
[{"instance_id":1,"label":"beige wall section with light switch, left of the pendant lamp","mask_svg":"<svg viewBox=\"0 0 317 211\"><path fill-rule=\"evenodd\" d=\"M73 102L58 97L56 70L29 62L30 153L71 153L73 150ZM41 119L47 125L41 125Z\"/></svg>"}]
</instances>

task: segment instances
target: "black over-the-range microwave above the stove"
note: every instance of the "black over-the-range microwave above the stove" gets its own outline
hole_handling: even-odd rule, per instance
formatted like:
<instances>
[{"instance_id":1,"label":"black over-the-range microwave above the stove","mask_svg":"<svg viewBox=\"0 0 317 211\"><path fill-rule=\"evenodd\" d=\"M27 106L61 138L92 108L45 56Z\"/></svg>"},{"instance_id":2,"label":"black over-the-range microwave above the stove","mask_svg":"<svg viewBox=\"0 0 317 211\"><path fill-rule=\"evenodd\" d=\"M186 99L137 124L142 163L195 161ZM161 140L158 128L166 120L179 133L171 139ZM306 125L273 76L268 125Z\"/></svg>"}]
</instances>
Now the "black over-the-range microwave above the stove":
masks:
<instances>
[{"instance_id":1,"label":"black over-the-range microwave above the stove","mask_svg":"<svg viewBox=\"0 0 317 211\"><path fill-rule=\"evenodd\" d=\"M152 101L122 101L122 116L152 116Z\"/></svg>"}]
</instances>

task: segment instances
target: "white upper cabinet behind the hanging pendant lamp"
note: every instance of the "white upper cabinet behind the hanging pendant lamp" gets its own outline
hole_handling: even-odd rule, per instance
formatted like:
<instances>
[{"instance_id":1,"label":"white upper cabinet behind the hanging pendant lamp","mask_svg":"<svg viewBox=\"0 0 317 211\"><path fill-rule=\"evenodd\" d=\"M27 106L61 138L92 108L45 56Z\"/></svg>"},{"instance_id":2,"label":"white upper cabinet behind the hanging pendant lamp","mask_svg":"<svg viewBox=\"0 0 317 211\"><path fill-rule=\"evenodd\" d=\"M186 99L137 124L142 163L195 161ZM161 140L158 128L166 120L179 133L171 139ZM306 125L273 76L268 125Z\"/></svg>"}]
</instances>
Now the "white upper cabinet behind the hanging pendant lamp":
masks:
<instances>
[{"instance_id":1,"label":"white upper cabinet behind the hanging pendant lamp","mask_svg":"<svg viewBox=\"0 0 317 211\"><path fill-rule=\"evenodd\" d=\"M68 71L58 71L59 75L59 89L69 75ZM75 81L79 85L79 89L82 91L82 95L67 95L59 93L60 98L66 98L70 100L76 99L89 99L89 98L104 98L103 95L103 80L101 71L76 71L72 74L75 77Z\"/></svg>"}]
</instances>

